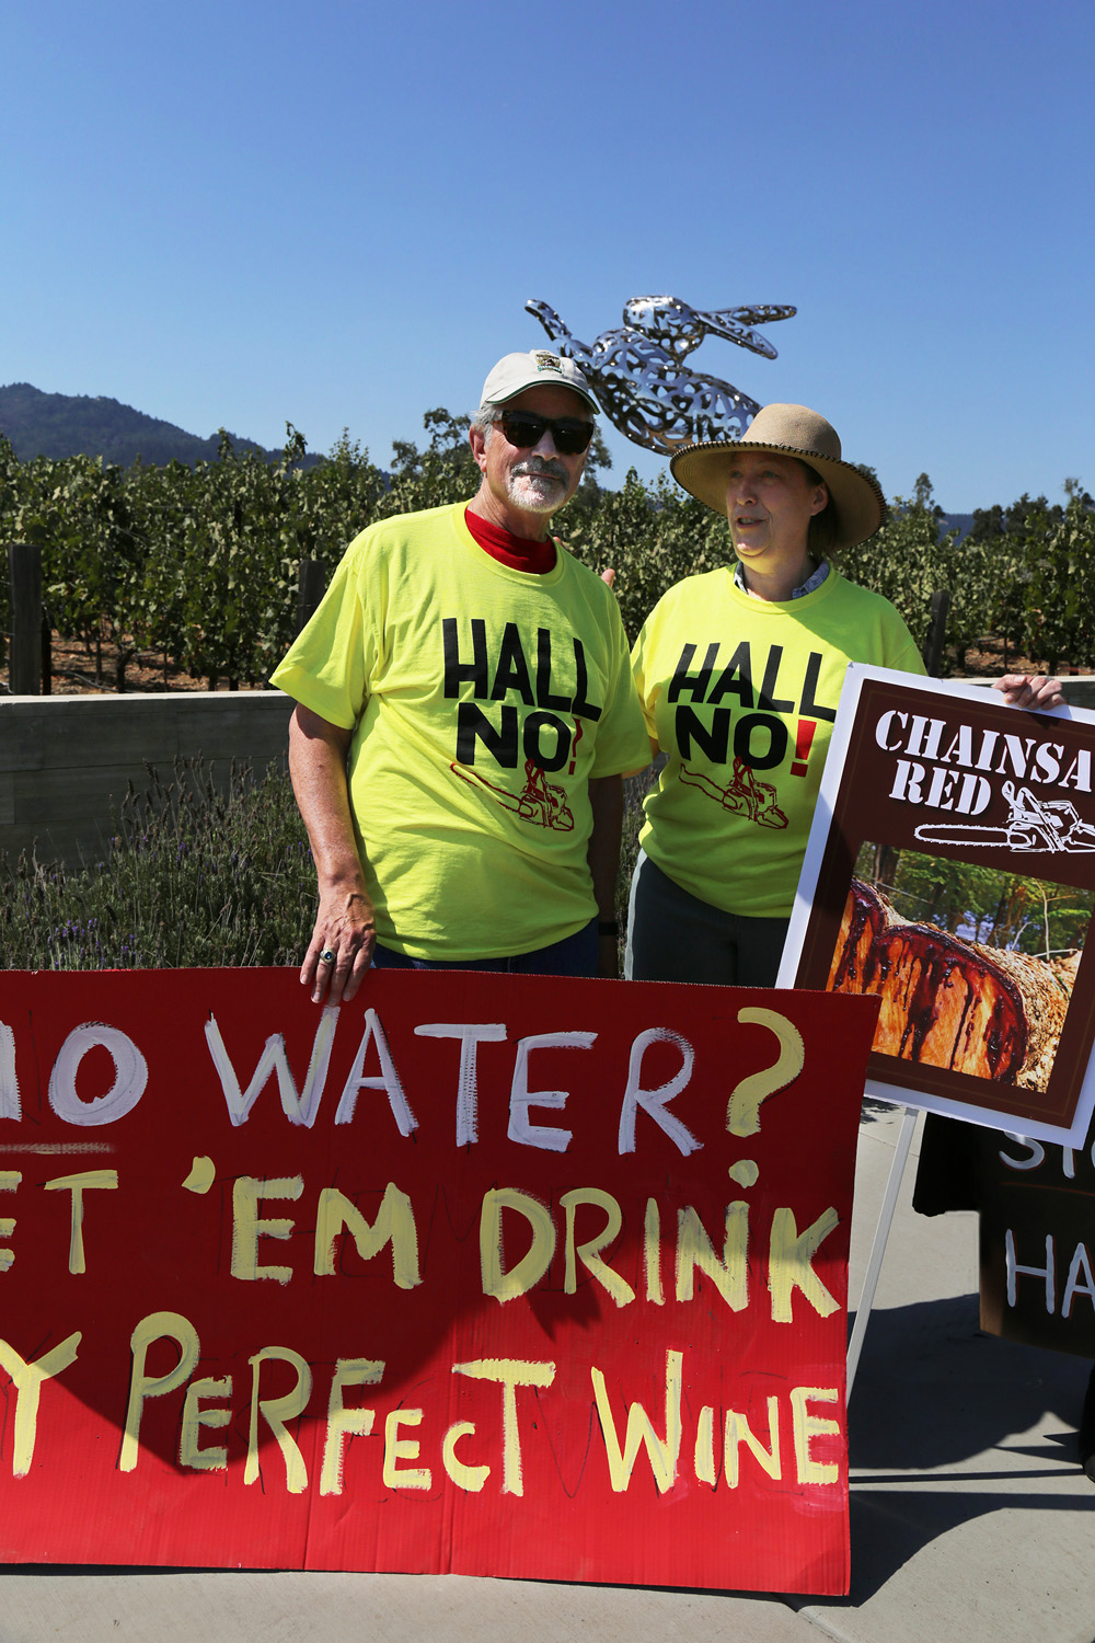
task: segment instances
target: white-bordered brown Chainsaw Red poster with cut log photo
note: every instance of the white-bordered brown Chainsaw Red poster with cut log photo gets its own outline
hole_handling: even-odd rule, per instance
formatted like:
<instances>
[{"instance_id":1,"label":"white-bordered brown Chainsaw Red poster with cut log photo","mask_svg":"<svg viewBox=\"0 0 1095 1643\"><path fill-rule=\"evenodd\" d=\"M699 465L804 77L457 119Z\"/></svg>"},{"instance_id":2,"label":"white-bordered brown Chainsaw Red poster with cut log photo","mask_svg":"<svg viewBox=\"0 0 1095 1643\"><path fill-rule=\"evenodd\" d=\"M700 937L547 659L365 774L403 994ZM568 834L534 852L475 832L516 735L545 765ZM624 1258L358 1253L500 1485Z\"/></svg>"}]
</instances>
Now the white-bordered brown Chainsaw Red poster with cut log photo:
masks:
<instances>
[{"instance_id":1,"label":"white-bordered brown Chainsaw Red poster with cut log photo","mask_svg":"<svg viewBox=\"0 0 1095 1643\"><path fill-rule=\"evenodd\" d=\"M849 667L780 983L880 1001L872 1094L1079 1144L1095 716Z\"/></svg>"}]
</instances>

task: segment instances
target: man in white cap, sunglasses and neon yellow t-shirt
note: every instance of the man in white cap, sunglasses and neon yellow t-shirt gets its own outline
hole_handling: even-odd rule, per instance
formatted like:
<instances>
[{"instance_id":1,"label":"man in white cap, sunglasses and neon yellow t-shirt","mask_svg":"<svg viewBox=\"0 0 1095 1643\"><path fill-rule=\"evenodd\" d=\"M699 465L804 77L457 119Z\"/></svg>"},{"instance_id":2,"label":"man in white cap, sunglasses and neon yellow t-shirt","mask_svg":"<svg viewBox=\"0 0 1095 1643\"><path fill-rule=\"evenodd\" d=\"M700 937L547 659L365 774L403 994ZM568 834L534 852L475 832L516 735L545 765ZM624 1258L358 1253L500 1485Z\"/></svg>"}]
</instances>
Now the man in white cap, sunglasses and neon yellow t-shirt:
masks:
<instances>
[{"instance_id":1,"label":"man in white cap, sunglasses and neon yellow t-shirt","mask_svg":"<svg viewBox=\"0 0 1095 1643\"><path fill-rule=\"evenodd\" d=\"M596 409L571 360L499 360L474 498L358 536L274 674L297 702L317 1004L371 963L616 974L621 772L647 733L609 588L547 534Z\"/></svg>"}]
</instances>

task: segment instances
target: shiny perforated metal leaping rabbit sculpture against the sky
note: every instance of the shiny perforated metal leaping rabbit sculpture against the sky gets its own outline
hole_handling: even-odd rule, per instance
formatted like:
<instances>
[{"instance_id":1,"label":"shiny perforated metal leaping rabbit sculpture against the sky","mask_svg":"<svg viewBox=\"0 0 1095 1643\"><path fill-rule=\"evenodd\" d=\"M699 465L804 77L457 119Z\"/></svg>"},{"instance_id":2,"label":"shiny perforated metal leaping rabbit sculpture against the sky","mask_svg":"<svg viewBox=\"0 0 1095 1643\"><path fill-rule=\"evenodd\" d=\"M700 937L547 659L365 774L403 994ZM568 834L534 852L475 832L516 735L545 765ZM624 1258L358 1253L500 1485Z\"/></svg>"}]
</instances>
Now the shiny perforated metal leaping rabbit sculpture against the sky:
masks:
<instances>
[{"instance_id":1,"label":"shiny perforated metal leaping rabbit sculpture against the sky","mask_svg":"<svg viewBox=\"0 0 1095 1643\"><path fill-rule=\"evenodd\" d=\"M547 302L525 302L560 353L581 366L604 414L621 434L647 450L671 452L694 439L740 437L760 404L717 376L686 370L686 357L704 337L724 337L750 353L775 360L777 350L755 332L796 309L762 302L754 307L691 309L676 297L632 297L619 330L601 332L589 347L573 337Z\"/></svg>"}]
</instances>

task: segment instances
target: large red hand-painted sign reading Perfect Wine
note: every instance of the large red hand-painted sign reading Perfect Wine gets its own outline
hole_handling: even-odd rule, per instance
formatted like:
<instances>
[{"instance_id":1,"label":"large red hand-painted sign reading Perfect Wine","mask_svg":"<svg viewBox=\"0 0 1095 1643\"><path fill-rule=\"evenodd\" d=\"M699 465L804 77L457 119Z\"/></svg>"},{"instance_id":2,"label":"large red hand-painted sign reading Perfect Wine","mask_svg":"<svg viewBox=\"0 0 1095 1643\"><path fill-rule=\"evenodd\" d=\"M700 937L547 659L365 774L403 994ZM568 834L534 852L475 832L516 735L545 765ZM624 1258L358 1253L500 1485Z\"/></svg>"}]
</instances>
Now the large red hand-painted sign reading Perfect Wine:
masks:
<instances>
[{"instance_id":1,"label":"large red hand-painted sign reading Perfect Wine","mask_svg":"<svg viewBox=\"0 0 1095 1643\"><path fill-rule=\"evenodd\" d=\"M873 1019L5 976L0 1554L845 1590Z\"/></svg>"}]
</instances>

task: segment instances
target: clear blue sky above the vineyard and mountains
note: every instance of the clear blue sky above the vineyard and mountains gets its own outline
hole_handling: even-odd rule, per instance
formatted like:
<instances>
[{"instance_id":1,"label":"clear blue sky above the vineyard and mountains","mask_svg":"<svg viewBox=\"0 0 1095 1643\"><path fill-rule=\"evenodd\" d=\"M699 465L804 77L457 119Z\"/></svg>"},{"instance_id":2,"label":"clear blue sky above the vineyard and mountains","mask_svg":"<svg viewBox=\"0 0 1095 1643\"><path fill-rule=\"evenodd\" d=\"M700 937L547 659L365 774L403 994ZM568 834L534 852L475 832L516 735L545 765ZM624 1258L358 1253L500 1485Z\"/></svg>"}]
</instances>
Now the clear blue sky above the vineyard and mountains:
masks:
<instances>
[{"instance_id":1,"label":"clear blue sky above the vineyard and mountains","mask_svg":"<svg viewBox=\"0 0 1095 1643\"><path fill-rule=\"evenodd\" d=\"M767 361L890 496L1095 490L1095 8L21 0L0 383L386 463L548 301L793 302ZM611 483L658 458L612 434Z\"/></svg>"}]
</instances>

